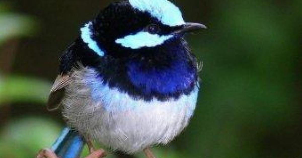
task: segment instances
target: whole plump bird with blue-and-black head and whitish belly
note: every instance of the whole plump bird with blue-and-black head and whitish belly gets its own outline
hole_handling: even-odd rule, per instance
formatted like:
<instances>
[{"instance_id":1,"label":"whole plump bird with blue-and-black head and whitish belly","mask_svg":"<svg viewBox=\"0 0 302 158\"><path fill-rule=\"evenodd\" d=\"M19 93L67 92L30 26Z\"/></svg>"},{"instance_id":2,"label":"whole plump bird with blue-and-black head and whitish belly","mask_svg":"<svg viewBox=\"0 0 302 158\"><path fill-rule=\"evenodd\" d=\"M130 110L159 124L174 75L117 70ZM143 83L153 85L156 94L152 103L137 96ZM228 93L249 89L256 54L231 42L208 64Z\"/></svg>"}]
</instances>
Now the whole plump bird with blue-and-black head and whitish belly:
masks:
<instances>
[{"instance_id":1,"label":"whole plump bird with blue-and-black head and whitish belly","mask_svg":"<svg viewBox=\"0 0 302 158\"><path fill-rule=\"evenodd\" d=\"M60 109L68 127L37 157L56 158L59 146L80 151L82 142L87 158L104 157L96 141L155 158L150 148L168 144L194 114L201 79L185 34L205 28L185 22L168 0L121 0L101 10L60 58L47 107Z\"/></svg>"}]
</instances>

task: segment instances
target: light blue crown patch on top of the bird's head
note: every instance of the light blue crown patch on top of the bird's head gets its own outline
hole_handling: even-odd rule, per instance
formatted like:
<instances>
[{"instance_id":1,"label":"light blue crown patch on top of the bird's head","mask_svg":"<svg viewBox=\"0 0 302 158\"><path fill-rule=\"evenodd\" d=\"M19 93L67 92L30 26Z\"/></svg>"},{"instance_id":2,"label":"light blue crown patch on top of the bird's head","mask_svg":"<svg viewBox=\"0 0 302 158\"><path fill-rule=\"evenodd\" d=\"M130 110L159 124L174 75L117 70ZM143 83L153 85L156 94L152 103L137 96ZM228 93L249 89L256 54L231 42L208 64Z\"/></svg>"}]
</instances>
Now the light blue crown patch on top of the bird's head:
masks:
<instances>
[{"instance_id":1,"label":"light blue crown patch on top of the bird's head","mask_svg":"<svg viewBox=\"0 0 302 158\"><path fill-rule=\"evenodd\" d=\"M185 24L182 12L172 2L167 0L129 0L131 6L140 11L149 12L162 24L180 26Z\"/></svg>"}]
</instances>

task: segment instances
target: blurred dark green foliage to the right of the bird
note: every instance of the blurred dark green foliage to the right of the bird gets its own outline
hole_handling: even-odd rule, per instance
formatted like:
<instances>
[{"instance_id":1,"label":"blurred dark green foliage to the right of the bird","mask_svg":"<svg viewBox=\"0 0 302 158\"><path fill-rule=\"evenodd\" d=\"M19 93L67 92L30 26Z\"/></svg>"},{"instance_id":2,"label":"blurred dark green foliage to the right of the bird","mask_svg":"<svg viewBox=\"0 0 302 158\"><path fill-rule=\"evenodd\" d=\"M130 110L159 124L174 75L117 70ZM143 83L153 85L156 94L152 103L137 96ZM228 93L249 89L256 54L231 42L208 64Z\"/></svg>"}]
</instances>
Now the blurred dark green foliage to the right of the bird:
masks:
<instances>
[{"instance_id":1,"label":"blurred dark green foliage to the right of the bird","mask_svg":"<svg viewBox=\"0 0 302 158\"><path fill-rule=\"evenodd\" d=\"M301 155L301 1L279 3L214 1L209 32L190 40L204 61L181 142L193 157Z\"/></svg>"}]
</instances>

